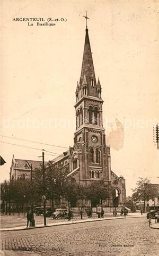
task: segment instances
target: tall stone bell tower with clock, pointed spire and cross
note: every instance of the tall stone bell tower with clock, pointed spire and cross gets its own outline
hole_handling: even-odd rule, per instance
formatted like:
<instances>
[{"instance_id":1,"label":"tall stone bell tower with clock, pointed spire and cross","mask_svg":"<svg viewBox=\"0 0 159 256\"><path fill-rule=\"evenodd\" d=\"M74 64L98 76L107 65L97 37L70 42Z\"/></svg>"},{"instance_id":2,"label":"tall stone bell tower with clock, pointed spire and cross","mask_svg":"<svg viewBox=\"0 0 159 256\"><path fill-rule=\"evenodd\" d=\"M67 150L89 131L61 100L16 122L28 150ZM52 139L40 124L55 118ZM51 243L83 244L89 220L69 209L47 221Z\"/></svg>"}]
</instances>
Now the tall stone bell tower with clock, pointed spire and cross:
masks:
<instances>
[{"instance_id":1,"label":"tall stone bell tower with clock, pointed spire and cross","mask_svg":"<svg viewBox=\"0 0 159 256\"><path fill-rule=\"evenodd\" d=\"M78 151L79 181L87 185L91 180L110 181L110 147L105 144L102 121L102 88L96 82L89 30L85 29L82 70L76 87L76 131L74 146Z\"/></svg>"}]
</instances>

